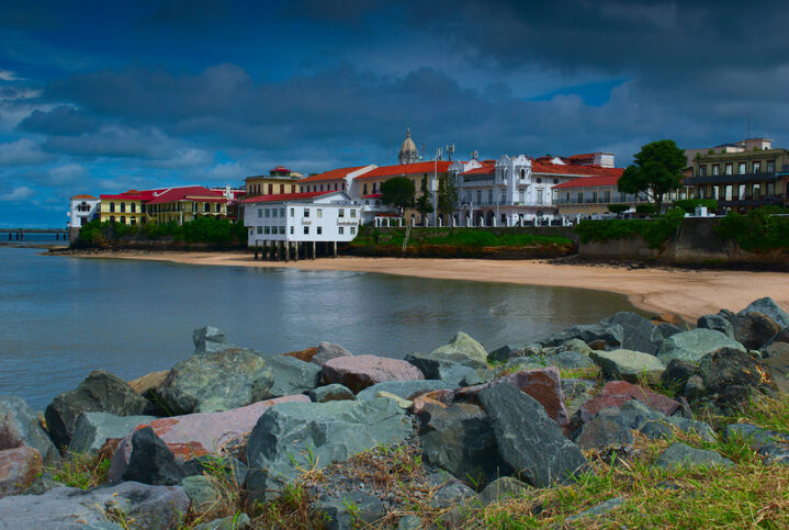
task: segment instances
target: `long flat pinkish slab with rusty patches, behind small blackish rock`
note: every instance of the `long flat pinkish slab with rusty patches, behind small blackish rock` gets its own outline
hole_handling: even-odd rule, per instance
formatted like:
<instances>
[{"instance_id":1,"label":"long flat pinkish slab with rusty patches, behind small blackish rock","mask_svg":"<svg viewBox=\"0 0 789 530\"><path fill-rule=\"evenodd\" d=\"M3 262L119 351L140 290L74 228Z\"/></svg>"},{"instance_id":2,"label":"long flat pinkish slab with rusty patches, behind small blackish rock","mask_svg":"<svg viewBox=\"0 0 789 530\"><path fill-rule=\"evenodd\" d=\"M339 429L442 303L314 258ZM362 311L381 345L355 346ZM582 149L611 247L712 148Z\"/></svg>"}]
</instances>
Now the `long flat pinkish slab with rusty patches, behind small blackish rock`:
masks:
<instances>
[{"instance_id":1,"label":"long flat pinkish slab with rusty patches, behind small blackish rock","mask_svg":"<svg viewBox=\"0 0 789 530\"><path fill-rule=\"evenodd\" d=\"M234 408L221 413L198 413L170 418L159 418L149 424L142 424L135 430L150 427L156 436L164 441L176 455L185 462L210 453L218 453L228 446L246 443L249 433L260 416L278 403L309 403L305 395L284 396L264 402L252 403L246 407ZM115 441L108 440L105 447ZM132 454L132 435L121 439L112 456L110 481L120 480Z\"/></svg>"}]
</instances>

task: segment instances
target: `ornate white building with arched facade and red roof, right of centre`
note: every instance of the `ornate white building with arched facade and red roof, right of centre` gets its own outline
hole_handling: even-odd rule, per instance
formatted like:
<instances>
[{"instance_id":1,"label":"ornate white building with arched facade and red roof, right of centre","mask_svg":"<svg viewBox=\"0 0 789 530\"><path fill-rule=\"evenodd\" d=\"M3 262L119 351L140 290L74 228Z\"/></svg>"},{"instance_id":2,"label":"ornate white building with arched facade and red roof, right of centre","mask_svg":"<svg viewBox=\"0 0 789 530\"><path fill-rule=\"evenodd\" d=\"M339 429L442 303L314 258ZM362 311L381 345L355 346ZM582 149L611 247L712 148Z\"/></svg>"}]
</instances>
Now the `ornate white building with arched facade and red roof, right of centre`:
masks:
<instances>
[{"instance_id":1,"label":"ornate white building with arched facade and red roof, right of centre","mask_svg":"<svg viewBox=\"0 0 789 530\"><path fill-rule=\"evenodd\" d=\"M460 194L459 225L520 226L560 216L555 187L591 177L618 178L623 170L613 167L612 154L591 153L537 159L504 155L498 160L457 161L450 171Z\"/></svg>"}]
</instances>

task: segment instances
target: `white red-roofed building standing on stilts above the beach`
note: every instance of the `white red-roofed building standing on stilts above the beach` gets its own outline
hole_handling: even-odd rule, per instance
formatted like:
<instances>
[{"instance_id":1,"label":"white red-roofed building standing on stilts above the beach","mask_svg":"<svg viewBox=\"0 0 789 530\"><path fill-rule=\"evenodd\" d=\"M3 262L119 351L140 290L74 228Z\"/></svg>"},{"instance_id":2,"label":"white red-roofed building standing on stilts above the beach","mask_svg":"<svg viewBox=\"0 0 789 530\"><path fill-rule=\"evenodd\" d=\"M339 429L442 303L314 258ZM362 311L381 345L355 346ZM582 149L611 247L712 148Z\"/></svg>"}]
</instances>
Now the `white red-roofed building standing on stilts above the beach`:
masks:
<instances>
[{"instance_id":1,"label":"white red-roofed building standing on stilts above the beach","mask_svg":"<svg viewBox=\"0 0 789 530\"><path fill-rule=\"evenodd\" d=\"M285 248L286 255L307 256L312 245L336 252L338 243L357 236L361 207L343 191L261 195L244 201L244 226L250 247Z\"/></svg>"}]
</instances>

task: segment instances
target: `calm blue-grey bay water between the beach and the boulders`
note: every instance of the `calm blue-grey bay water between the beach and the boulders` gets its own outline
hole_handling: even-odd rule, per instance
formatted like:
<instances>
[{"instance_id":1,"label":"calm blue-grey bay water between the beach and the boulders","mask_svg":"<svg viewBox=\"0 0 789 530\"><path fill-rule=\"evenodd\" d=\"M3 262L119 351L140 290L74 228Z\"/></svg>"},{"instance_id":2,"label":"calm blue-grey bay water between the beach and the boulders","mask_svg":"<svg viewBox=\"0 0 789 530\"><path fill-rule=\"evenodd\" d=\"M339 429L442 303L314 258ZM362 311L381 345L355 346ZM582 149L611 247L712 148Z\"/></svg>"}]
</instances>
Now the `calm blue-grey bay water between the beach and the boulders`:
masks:
<instances>
[{"instance_id":1,"label":"calm blue-grey bay water between the beach and the boulders","mask_svg":"<svg viewBox=\"0 0 789 530\"><path fill-rule=\"evenodd\" d=\"M98 368L133 379L172 367L205 325L267 353L328 340L399 358L458 330L494 349L632 311L577 289L41 252L0 246L0 394L38 409Z\"/></svg>"}]
</instances>

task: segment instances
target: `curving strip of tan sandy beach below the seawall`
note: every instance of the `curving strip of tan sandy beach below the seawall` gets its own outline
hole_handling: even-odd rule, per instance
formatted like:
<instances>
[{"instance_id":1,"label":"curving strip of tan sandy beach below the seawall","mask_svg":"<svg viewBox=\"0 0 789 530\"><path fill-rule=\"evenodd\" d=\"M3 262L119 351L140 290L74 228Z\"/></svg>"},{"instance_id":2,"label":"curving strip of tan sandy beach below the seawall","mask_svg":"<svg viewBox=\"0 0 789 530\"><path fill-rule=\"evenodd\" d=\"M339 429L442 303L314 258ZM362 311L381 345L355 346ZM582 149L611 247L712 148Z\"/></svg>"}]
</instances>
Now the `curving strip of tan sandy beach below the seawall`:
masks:
<instances>
[{"instance_id":1,"label":"curving strip of tan sandy beach below the seawall","mask_svg":"<svg viewBox=\"0 0 789 530\"><path fill-rule=\"evenodd\" d=\"M360 258L341 256L297 262L256 261L241 252L101 251L53 253L88 259L134 259L210 267L258 267L306 271L377 272L436 280L466 280L589 289L623 294L635 307L669 313L695 322L728 307L740 311L756 298L770 296L789 309L789 274L731 270L672 268L612 268L593 264L557 264L542 260Z\"/></svg>"}]
</instances>

